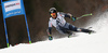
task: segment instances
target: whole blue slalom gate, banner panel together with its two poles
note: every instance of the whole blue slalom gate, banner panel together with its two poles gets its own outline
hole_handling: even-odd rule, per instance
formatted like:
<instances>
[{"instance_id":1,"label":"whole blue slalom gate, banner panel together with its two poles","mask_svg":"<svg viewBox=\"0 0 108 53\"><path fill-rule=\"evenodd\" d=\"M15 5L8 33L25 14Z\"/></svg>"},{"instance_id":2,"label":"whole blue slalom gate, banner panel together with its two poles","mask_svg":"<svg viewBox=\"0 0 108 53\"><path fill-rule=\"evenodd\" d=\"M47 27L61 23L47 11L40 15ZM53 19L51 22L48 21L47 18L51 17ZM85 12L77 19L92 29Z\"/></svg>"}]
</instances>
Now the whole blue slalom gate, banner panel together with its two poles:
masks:
<instances>
[{"instance_id":1,"label":"whole blue slalom gate, banner panel together with its two poles","mask_svg":"<svg viewBox=\"0 0 108 53\"><path fill-rule=\"evenodd\" d=\"M5 18L11 17L11 16L16 16L16 15L25 15L25 22L26 22L29 43L31 43L30 34L29 34L29 28L28 28L28 23L27 23L27 17L26 17L26 12L25 12L23 0L9 0L9 1L3 1L3 2L1 0L1 5L2 5L2 12L3 12L3 22L4 22L4 29L5 29L5 37L6 37L8 48L10 47L10 44L9 44Z\"/></svg>"}]
</instances>

